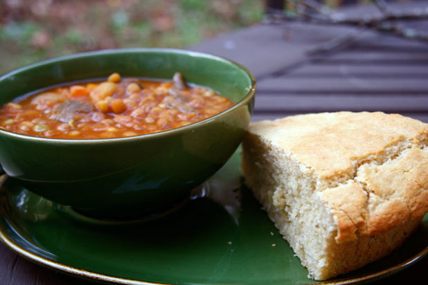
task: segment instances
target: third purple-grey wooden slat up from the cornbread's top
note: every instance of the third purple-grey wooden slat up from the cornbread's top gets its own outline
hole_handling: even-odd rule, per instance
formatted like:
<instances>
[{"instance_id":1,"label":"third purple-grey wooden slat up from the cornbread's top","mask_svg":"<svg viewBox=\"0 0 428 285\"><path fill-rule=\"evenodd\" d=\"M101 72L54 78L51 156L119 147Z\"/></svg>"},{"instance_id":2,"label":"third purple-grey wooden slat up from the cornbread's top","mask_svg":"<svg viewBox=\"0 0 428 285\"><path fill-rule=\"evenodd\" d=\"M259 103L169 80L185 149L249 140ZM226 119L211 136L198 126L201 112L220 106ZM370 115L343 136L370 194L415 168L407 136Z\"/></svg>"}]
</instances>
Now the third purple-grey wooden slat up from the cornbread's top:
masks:
<instances>
[{"instance_id":1,"label":"third purple-grey wooden slat up from the cornbread's top","mask_svg":"<svg viewBox=\"0 0 428 285\"><path fill-rule=\"evenodd\" d=\"M305 64L287 73L287 77L358 77L358 78L425 78L428 65L349 65L349 64Z\"/></svg>"}]
</instances>

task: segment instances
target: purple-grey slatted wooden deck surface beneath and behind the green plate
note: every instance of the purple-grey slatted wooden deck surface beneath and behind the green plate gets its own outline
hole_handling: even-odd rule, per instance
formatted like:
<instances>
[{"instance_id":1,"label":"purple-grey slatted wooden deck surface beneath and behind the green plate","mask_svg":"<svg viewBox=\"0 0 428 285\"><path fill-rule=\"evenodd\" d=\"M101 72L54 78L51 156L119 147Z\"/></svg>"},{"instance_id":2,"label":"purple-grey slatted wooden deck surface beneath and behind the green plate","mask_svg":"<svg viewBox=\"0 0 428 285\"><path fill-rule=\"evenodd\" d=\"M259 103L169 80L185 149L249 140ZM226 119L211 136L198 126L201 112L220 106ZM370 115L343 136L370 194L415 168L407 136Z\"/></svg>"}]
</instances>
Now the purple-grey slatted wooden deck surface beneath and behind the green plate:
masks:
<instances>
[{"instance_id":1,"label":"purple-grey slatted wooden deck surface beneath and behind the green plate","mask_svg":"<svg viewBox=\"0 0 428 285\"><path fill-rule=\"evenodd\" d=\"M375 10L350 10L355 15L362 11ZM428 28L427 21L414 25ZM339 50L311 55L341 35L357 39ZM257 80L255 121L348 110L401 113L428 122L426 43L348 27L260 24L191 49L221 55L249 68ZM424 283L427 268L425 258L377 283ZM0 244L0 284L76 283L90 284L26 261Z\"/></svg>"}]
</instances>

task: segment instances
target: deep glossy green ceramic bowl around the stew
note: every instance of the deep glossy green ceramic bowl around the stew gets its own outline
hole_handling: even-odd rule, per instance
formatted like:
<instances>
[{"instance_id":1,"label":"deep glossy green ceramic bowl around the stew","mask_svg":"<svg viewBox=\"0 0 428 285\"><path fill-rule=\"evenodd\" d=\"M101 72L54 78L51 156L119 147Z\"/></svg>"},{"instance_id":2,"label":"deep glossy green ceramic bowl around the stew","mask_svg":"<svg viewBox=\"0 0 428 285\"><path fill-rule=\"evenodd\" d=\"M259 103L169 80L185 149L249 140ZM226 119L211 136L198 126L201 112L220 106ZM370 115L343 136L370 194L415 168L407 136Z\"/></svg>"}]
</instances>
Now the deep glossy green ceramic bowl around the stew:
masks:
<instances>
[{"instance_id":1,"label":"deep glossy green ceramic bowl around the stew","mask_svg":"<svg viewBox=\"0 0 428 285\"><path fill-rule=\"evenodd\" d=\"M166 210L217 172L237 149L253 111L253 75L227 59L138 48L58 57L0 77L0 104L47 86L107 77L186 80L235 102L206 120L157 134L100 140L37 138L0 130L0 163L46 199L102 217Z\"/></svg>"}]
</instances>

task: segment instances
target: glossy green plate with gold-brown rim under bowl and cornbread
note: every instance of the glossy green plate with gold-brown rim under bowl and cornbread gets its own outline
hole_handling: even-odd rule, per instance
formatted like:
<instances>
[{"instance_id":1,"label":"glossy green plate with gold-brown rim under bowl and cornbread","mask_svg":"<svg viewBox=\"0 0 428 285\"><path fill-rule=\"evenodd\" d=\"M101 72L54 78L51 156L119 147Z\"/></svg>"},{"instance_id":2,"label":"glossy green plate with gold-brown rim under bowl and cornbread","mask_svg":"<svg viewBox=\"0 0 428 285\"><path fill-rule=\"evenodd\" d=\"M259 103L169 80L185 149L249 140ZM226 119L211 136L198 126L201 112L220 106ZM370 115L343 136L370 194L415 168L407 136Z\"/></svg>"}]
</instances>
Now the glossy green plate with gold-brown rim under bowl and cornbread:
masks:
<instances>
[{"instance_id":1,"label":"glossy green plate with gold-brown rim under bowl and cornbread","mask_svg":"<svg viewBox=\"0 0 428 285\"><path fill-rule=\"evenodd\" d=\"M384 277L428 252L428 216L388 258L327 282L307 270L242 185L238 152L204 198L139 222L85 218L2 177L0 239L48 268L122 284L345 284Z\"/></svg>"}]
</instances>

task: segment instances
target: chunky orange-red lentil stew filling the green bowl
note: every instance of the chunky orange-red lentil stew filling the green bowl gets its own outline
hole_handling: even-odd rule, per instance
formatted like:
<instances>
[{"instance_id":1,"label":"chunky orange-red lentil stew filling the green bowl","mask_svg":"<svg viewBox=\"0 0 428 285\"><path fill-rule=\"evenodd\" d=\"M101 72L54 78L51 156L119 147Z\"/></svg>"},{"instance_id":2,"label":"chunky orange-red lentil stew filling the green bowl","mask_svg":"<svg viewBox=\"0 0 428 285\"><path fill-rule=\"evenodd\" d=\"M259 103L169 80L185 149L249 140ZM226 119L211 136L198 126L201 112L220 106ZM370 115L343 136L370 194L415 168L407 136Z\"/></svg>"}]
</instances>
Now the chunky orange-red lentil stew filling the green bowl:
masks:
<instances>
[{"instance_id":1,"label":"chunky orange-red lentil stew filling the green bowl","mask_svg":"<svg viewBox=\"0 0 428 285\"><path fill-rule=\"evenodd\" d=\"M121 78L24 95L0 109L0 128L45 138L99 139L152 134L199 122L233 105L180 73L172 81Z\"/></svg>"}]
</instances>

